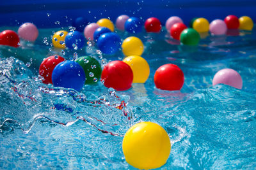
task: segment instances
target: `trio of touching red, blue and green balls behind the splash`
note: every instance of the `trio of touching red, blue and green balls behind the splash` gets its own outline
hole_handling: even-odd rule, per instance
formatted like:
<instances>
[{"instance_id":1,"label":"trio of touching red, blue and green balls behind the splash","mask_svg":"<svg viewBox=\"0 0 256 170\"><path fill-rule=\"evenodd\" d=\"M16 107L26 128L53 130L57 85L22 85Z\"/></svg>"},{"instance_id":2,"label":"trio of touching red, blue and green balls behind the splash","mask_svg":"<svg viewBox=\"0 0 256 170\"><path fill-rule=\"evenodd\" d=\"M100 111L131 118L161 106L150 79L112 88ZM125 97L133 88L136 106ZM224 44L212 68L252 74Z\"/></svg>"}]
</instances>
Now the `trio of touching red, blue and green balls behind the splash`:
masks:
<instances>
[{"instance_id":1,"label":"trio of touching red, blue and green balls behind the splash","mask_svg":"<svg viewBox=\"0 0 256 170\"><path fill-rule=\"evenodd\" d=\"M53 55L44 59L39 67L39 74L44 78L43 83L77 91L80 91L84 84L97 83L101 73L98 60L90 56L79 57L73 61Z\"/></svg>"}]
</instances>

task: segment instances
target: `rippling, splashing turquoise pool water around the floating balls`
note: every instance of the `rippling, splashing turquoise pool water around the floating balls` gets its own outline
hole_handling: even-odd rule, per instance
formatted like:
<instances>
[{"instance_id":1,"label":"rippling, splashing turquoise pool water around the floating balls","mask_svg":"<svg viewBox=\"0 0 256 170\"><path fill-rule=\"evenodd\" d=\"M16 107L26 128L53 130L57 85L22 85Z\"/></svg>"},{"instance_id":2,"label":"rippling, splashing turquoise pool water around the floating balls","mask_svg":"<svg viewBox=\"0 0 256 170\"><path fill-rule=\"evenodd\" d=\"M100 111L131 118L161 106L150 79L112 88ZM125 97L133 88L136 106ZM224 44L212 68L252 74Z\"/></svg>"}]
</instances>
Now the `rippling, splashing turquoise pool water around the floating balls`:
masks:
<instances>
[{"instance_id":1,"label":"rippling, splashing turquoise pool water around the floating balls","mask_svg":"<svg viewBox=\"0 0 256 170\"><path fill-rule=\"evenodd\" d=\"M90 44L82 50L55 50L51 35L58 29L39 31L35 44L0 46L1 169L134 169L125 162L122 136L141 121L156 122L170 136L170 157L159 169L256 167L255 30L208 35L195 48L180 46L166 31L142 32L142 57L150 65L145 84L113 92L99 82L79 93L43 84L38 78L42 60L54 54L70 59L77 53L106 64L123 59L122 52L102 55ZM156 69L167 63L184 72L180 91L154 86ZM226 67L241 74L242 90L212 87L214 74Z\"/></svg>"}]
</instances>

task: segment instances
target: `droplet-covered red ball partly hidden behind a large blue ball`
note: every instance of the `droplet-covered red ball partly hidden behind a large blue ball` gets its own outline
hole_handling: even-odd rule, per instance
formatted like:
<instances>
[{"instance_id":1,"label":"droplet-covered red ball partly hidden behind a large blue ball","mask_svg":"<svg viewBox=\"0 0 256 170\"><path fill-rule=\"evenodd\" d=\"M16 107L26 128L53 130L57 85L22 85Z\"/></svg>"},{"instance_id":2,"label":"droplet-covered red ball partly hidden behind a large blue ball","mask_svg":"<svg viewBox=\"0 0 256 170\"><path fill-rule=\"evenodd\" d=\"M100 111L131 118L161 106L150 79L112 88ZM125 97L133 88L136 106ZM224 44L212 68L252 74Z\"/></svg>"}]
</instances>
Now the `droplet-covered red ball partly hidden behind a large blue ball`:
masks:
<instances>
[{"instance_id":1,"label":"droplet-covered red ball partly hidden behind a large blue ball","mask_svg":"<svg viewBox=\"0 0 256 170\"><path fill-rule=\"evenodd\" d=\"M60 62L63 62L64 60L65 59L59 55L52 55L43 60L39 67L39 74L40 76L44 77L43 83L52 84L52 71Z\"/></svg>"}]
</instances>

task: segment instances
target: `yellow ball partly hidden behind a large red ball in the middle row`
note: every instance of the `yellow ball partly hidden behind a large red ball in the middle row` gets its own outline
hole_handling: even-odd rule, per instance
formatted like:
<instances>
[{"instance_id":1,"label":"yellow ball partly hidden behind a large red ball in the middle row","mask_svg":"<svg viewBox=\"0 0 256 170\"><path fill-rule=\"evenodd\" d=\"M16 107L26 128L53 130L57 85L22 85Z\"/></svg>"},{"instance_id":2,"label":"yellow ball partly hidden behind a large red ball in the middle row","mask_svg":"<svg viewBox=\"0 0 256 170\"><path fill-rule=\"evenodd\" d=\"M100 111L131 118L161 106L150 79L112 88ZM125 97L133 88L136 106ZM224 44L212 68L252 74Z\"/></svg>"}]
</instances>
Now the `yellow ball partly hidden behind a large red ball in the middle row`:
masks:
<instances>
[{"instance_id":1,"label":"yellow ball partly hidden behind a large red ball in the middle row","mask_svg":"<svg viewBox=\"0 0 256 170\"><path fill-rule=\"evenodd\" d=\"M131 55L125 57L123 61L132 69L132 83L145 83L147 81L150 72L147 60L138 55Z\"/></svg>"}]
</instances>

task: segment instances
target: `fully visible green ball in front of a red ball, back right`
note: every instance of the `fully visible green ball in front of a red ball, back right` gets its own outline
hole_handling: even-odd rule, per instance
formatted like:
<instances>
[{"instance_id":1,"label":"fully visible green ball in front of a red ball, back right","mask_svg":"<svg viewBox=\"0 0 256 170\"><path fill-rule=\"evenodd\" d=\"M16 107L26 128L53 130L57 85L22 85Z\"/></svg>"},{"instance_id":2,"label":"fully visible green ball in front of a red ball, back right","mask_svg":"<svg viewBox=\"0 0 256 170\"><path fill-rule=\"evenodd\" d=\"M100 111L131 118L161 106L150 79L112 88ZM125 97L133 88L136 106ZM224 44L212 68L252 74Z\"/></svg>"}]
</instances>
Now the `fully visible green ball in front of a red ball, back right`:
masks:
<instances>
[{"instance_id":1,"label":"fully visible green ball in front of a red ball, back right","mask_svg":"<svg viewBox=\"0 0 256 170\"><path fill-rule=\"evenodd\" d=\"M180 43L183 45L198 45L200 35L195 29L184 29L180 34Z\"/></svg>"}]
</instances>

